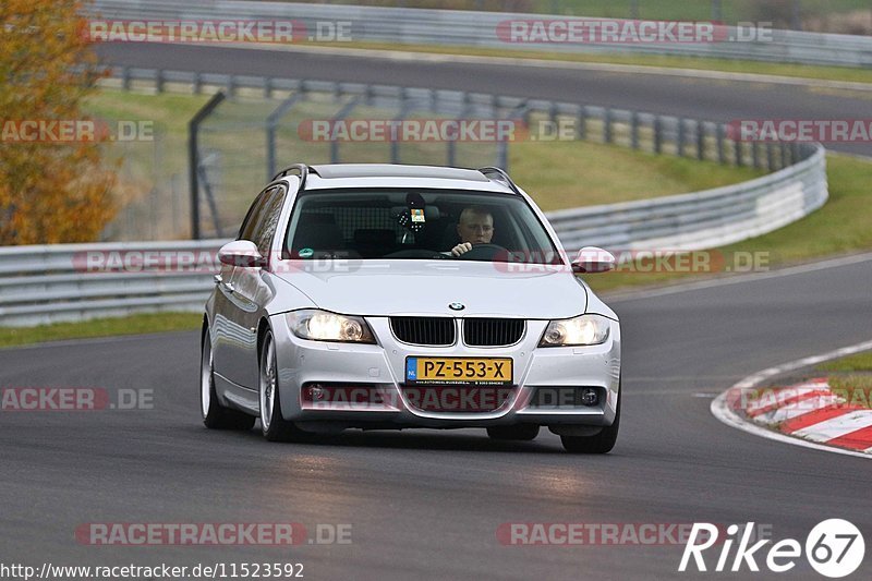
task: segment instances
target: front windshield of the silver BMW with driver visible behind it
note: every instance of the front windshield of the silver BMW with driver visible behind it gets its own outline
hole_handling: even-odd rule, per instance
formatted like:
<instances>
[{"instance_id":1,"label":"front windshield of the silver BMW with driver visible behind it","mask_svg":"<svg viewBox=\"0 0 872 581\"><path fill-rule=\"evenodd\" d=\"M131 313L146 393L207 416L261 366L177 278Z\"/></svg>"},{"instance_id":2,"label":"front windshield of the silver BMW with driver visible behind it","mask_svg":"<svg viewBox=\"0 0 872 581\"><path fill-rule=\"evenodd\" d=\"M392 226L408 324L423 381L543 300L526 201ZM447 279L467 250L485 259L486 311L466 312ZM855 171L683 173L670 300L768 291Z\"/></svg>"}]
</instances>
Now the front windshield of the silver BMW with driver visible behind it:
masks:
<instances>
[{"instance_id":1,"label":"front windshield of the silver BMW with driver visible behind it","mask_svg":"<svg viewBox=\"0 0 872 581\"><path fill-rule=\"evenodd\" d=\"M451 250L468 243L456 256ZM558 264L521 196L458 190L334 190L296 199L284 257L424 258Z\"/></svg>"}]
</instances>

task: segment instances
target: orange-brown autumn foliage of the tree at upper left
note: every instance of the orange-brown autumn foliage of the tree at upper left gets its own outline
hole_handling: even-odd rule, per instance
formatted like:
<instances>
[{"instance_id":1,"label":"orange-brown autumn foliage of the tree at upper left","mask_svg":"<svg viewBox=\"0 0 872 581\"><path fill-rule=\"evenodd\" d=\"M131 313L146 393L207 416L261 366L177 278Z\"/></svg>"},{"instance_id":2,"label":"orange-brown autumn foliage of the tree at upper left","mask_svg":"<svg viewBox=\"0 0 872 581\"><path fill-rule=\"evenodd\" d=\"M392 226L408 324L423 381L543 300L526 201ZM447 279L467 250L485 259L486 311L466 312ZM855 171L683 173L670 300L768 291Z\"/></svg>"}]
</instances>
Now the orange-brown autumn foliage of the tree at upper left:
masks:
<instances>
[{"instance_id":1,"label":"orange-brown autumn foliage of the tree at upper left","mask_svg":"<svg viewBox=\"0 0 872 581\"><path fill-rule=\"evenodd\" d=\"M0 0L0 244L97 240L114 208L100 141L21 141L14 131L86 120L99 73L82 2Z\"/></svg>"}]
</instances>

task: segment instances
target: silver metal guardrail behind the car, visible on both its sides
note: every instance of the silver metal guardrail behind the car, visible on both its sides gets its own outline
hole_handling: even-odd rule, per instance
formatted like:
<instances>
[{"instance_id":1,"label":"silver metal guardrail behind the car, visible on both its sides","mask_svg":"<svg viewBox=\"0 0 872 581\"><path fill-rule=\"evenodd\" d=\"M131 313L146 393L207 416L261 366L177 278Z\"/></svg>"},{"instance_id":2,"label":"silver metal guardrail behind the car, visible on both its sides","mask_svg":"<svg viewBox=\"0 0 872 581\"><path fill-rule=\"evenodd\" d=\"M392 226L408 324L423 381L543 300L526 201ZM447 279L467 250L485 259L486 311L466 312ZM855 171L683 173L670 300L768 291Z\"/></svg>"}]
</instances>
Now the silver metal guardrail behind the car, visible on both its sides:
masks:
<instances>
[{"instance_id":1,"label":"silver metal guardrail behind the car, visible on both its sides","mask_svg":"<svg viewBox=\"0 0 872 581\"><path fill-rule=\"evenodd\" d=\"M818 146L808 159L750 182L554 211L548 219L568 251L582 245L699 250L780 228L819 208L826 198L826 162L823 147ZM2 247L0 325L32 326L136 312L198 312L218 270L216 251L221 242ZM159 267L148 268L149 264Z\"/></svg>"}]
</instances>

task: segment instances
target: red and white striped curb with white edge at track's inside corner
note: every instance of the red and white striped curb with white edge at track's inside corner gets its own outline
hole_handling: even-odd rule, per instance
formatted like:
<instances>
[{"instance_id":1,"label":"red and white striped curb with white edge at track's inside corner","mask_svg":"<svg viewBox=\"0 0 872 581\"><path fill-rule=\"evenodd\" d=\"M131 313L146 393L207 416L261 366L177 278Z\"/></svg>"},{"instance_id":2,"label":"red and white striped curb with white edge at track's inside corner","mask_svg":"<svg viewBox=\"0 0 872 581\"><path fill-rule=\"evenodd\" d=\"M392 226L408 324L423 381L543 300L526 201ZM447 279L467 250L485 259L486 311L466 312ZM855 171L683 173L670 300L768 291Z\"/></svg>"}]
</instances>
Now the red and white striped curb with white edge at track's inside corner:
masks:
<instances>
[{"instance_id":1,"label":"red and white striped curb with white edge at track's inside corner","mask_svg":"<svg viewBox=\"0 0 872 581\"><path fill-rule=\"evenodd\" d=\"M848 456L872 458L872 410L833 394L826 379L765 390L766 379L872 349L872 341L770 367L746 377L712 401L727 425L768 439Z\"/></svg>"}]
</instances>

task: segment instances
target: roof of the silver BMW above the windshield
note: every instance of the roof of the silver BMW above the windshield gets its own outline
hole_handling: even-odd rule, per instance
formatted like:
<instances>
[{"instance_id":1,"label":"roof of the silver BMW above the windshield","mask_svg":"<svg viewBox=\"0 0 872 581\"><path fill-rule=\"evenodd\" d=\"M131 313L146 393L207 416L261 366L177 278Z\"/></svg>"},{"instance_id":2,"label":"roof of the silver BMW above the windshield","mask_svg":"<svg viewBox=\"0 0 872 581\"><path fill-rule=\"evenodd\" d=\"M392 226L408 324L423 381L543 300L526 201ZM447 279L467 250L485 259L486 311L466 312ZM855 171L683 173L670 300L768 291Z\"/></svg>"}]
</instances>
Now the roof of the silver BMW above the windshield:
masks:
<instances>
[{"instance_id":1,"label":"roof of the silver BMW above the windshield","mask_svg":"<svg viewBox=\"0 0 872 581\"><path fill-rule=\"evenodd\" d=\"M340 187L415 187L517 194L508 179L491 179L483 171L474 169L400 164L329 164L308 166L307 169L304 191Z\"/></svg>"}]
</instances>

